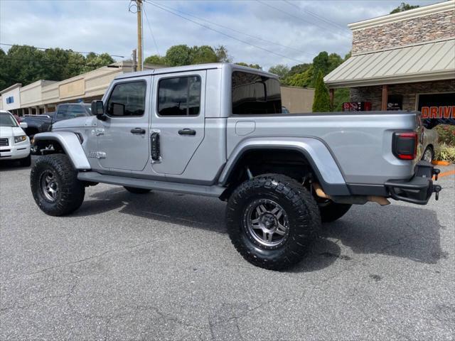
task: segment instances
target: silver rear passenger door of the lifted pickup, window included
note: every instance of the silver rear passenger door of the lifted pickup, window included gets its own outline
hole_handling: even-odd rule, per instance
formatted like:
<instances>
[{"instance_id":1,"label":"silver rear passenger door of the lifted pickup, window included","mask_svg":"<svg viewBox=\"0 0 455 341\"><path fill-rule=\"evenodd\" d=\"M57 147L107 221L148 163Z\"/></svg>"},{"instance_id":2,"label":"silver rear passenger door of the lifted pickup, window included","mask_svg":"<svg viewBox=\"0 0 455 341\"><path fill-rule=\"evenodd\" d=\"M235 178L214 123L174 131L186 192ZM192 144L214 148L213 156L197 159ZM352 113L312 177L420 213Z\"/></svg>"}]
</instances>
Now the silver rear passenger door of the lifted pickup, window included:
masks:
<instances>
[{"instance_id":1,"label":"silver rear passenger door of the lifted pickup, window included","mask_svg":"<svg viewBox=\"0 0 455 341\"><path fill-rule=\"evenodd\" d=\"M204 139L205 70L155 75L151 133L159 133L156 173L179 175Z\"/></svg>"}]
</instances>

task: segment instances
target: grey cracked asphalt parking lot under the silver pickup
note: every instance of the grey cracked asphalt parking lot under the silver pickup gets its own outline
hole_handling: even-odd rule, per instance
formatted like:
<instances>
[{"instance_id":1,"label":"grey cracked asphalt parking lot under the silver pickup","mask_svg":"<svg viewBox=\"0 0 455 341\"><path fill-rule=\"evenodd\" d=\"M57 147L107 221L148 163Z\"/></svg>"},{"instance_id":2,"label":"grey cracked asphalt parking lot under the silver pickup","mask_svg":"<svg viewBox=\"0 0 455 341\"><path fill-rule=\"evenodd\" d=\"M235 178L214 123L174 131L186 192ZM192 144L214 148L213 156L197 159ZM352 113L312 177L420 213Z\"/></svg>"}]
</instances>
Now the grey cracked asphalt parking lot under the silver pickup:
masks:
<instances>
[{"instance_id":1,"label":"grey cracked asphalt parking lot under the silver pickup","mask_svg":"<svg viewBox=\"0 0 455 341\"><path fill-rule=\"evenodd\" d=\"M353 207L273 272L217 199L100 184L49 217L29 173L0 166L0 340L454 340L454 175L427 206Z\"/></svg>"}]
</instances>

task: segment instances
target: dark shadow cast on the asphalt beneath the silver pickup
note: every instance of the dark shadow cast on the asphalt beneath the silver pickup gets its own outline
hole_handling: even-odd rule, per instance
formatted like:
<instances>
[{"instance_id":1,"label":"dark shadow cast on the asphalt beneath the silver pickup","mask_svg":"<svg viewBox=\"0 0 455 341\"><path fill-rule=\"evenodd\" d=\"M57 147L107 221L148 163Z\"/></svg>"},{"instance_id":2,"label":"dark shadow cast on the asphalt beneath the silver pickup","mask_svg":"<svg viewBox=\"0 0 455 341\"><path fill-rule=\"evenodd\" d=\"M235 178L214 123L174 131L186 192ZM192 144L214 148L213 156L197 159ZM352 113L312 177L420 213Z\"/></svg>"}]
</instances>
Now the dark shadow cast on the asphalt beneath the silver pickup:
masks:
<instances>
[{"instance_id":1,"label":"dark shadow cast on the asphalt beneath the silver pickup","mask_svg":"<svg viewBox=\"0 0 455 341\"><path fill-rule=\"evenodd\" d=\"M112 188L87 197L74 215L97 215L116 209L137 217L227 233L225 202L193 195L136 195ZM323 269L336 259L349 261L350 256L341 255L341 244L354 254L383 254L435 264L446 257L441 251L439 229L444 227L439 225L436 212L426 208L374 204L353 207L337 222L323 224L314 252L293 271Z\"/></svg>"}]
</instances>

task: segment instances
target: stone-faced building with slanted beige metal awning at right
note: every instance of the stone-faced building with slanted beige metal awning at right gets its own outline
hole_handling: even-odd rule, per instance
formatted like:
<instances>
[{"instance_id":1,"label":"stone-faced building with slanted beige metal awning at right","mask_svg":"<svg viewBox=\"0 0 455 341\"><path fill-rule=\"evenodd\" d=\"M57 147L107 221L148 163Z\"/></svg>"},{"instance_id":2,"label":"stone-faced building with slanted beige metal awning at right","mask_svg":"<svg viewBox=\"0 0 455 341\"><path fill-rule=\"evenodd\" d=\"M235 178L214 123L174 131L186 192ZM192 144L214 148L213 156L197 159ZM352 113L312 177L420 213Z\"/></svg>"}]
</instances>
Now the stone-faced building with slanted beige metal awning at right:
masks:
<instances>
[{"instance_id":1,"label":"stone-faced building with slanted beige metal awning at right","mask_svg":"<svg viewBox=\"0 0 455 341\"><path fill-rule=\"evenodd\" d=\"M351 102L372 110L422 110L422 116L426 107L455 108L454 0L349 28L352 56L324 78L332 94L349 87Z\"/></svg>"}]
</instances>

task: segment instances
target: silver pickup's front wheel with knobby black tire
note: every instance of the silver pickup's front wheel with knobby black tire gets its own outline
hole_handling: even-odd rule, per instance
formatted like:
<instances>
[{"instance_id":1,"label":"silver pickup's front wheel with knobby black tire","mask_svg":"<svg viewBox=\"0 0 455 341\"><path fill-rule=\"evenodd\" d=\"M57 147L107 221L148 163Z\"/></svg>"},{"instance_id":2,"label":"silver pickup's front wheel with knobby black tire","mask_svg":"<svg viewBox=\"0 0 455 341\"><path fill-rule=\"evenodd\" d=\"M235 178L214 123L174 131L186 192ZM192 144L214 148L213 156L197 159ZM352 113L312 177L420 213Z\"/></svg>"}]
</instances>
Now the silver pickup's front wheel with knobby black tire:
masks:
<instances>
[{"instance_id":1,"label":"silver pickup's front wheel with knobby black tire","mask_svg":"<svg viewBox=\"0 0 455 341\"><path fill-rule=\"evenodd\" d=\"M40 156L31 169L30 185L36 204L48 215L68 215L84 201L85 186L65 154Z\"/></svg>"}]
</instances>

